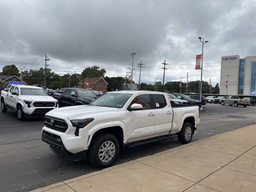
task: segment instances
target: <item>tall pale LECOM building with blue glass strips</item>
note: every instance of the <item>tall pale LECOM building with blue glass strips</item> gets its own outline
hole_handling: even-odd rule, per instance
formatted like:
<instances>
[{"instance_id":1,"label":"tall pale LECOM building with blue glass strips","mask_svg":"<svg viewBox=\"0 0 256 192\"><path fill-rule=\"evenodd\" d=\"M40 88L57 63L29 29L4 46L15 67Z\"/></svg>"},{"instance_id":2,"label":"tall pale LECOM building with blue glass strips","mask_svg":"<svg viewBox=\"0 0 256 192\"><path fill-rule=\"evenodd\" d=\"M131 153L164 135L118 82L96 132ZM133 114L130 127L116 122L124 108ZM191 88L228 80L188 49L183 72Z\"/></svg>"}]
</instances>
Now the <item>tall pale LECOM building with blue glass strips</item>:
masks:
<instances>
[{"instance_id":1,"label":"tall pale LECOM building with blue glass strips","mask_svg":"<svg viewBox=\"0 0 256 192\"><path fill-rule=\"evenodd\" d=\"M256 56L223 56L220 69L221 95L255 96Z\"/></svg>"}]
</instances>

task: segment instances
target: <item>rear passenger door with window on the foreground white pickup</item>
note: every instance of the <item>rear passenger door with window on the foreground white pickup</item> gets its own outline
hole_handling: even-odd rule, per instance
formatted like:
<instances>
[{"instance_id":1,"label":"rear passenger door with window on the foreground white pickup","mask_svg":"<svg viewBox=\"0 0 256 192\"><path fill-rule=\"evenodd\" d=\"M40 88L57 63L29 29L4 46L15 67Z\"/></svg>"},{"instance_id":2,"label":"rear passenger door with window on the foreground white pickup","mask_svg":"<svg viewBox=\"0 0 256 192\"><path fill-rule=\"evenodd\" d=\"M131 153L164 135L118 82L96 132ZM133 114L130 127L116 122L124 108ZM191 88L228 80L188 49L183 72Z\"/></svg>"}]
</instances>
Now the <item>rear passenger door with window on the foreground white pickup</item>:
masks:
<instances>
[{"instance_id":1,"label":"rear passenger door with window on the foreground white pickup","mask_svg":"<svg viewBox=\"0 0 256 192\"><path fill-rule=\"evenodd\" d=\"M163 94L152 94L153 108L156 113L155 135L168 134L172 128L172 108Z\"/></svg>"}]
</instances>

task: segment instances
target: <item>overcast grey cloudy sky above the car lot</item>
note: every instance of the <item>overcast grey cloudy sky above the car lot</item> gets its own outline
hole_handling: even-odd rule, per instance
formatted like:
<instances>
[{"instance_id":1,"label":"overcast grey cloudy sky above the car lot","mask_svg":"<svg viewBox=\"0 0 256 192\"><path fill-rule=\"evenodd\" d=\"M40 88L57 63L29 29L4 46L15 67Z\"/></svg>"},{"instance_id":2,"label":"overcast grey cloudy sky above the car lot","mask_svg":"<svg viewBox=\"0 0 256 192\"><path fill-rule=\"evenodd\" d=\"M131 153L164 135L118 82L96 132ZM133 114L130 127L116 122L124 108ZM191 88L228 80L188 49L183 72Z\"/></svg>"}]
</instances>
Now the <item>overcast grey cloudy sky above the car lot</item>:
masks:
<instances>
[{"instance_id":1,"label":"overcast grey cloudy sky above the car lot","mask_svg":"<svg viewBox=\"0 0 256 192\"><path fill-rule=\"evenodd\" d=\"M58 74L105 68L106 76L138 82L199 80L194 70L204 46L203 80L220 82L221 56L256 55L255 0L0 0L0 71L7 64L39 69L47 54Z\"/></svg>"}]
</instances>

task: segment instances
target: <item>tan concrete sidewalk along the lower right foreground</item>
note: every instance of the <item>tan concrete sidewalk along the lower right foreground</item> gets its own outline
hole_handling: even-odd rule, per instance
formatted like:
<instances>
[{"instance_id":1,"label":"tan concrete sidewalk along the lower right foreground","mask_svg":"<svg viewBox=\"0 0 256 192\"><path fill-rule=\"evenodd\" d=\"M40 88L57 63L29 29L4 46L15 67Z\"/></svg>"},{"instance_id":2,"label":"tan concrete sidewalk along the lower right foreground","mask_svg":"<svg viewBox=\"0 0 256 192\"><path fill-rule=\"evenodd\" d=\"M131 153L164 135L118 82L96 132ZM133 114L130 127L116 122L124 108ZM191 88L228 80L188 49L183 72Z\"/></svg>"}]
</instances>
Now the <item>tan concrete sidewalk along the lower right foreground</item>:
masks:
<instances>
[{"instance_id":1,"label":"tan concrete sidewalk along the lower right foreground","mask_svg":"<svg viewBox=\"0 0 256 192\"><path fill-rule=\"evenodd\" d=\"M256 125L33 192L256 192Z\"/></svg>"}]
</instances>

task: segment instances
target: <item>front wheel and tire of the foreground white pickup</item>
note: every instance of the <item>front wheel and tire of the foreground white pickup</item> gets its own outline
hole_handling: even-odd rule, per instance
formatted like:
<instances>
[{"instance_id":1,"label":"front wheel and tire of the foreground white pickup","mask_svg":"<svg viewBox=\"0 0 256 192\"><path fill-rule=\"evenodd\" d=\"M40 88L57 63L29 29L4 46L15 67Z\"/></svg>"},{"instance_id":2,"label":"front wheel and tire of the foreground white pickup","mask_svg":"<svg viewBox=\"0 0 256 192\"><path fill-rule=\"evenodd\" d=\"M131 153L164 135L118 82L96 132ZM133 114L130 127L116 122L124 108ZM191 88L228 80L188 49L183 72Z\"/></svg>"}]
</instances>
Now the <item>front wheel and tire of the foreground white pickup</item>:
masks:
<instances>
[{"instance_id":1,"label":"front wheel and tire of the foreground white pickup","mask_svg":"<svg viewBox=\"0 0 256 192\"><path fill-rule=\"evenodd\" d=\"M119 141L112 135L103 133L92 140L89 146L90 163L98 168L111 166L119 153Z\"/></svg>"}]
</instances>

